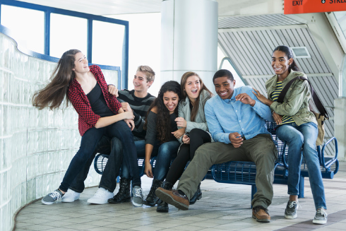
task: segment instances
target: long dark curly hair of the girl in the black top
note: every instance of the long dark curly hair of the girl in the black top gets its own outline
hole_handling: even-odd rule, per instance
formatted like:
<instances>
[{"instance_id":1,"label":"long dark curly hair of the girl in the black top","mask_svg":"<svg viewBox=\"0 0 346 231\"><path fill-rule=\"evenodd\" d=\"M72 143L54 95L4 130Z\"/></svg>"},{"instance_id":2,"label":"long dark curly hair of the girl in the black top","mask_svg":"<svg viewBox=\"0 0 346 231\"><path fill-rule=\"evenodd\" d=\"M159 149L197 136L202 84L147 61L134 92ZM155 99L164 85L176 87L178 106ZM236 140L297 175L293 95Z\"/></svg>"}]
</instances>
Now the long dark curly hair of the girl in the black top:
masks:
<instances>
[{"instance_id":1,"label":"long dark curly hair of the girl in the black top","mask_svg":"<svg viewBox=\"0 0 346 231\"><path fill-rule=\"evenodd\" d=\"M148 114L153 107L157 108L157 120L156 120L156 131L157 131L157 139L161 143L165 143L170 140L171 137L171 122L169 119L169 110L167 109L165 103L163 102L163 94L167 93L167 91L172 91L176 93L179 97L179 102L181 100L181 92L180 92L180 84L177 81L167 81L164 83L157 95L157 98L153 101L148 109ZM178 116L178 105L174 109L174 113ZM148 114L145 117L144 129L147 129L148 124Z\"/></svg>"}]
</instances>

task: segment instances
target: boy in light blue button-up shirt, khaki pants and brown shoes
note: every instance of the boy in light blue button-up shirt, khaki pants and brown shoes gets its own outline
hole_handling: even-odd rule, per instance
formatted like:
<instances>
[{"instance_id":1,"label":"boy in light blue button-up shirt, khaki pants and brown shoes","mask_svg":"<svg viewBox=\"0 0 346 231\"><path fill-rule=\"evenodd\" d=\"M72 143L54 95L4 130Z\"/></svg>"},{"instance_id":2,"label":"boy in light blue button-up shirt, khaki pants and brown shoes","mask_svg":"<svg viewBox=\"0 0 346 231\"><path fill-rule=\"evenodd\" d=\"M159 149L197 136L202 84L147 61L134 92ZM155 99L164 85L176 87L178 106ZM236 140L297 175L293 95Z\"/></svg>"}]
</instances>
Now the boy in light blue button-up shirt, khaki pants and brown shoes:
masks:
<instances>
[{"instance_id":1,"label":"boy in light blue button-up shirt, khaki pants and brown shoes","mask_svg":"<svg viewBox=\"0 0 346 231\"><path fill-rule=\"evenodd\" d=\"M189 209L189 199L212 165L252 161L257 171L252 217L268 223L267 208L273 199L274 167L278 157L278 150L266 129L266 120L273 121L270 108L257 100L251 87L234 88L235 81L228 70L217 71L213 83L217 95L206 102L205 119L216 142L205 143L196 150L177 190L160 189L162 193L156 194L179 209Z\"/></svg>"}]
</instances>

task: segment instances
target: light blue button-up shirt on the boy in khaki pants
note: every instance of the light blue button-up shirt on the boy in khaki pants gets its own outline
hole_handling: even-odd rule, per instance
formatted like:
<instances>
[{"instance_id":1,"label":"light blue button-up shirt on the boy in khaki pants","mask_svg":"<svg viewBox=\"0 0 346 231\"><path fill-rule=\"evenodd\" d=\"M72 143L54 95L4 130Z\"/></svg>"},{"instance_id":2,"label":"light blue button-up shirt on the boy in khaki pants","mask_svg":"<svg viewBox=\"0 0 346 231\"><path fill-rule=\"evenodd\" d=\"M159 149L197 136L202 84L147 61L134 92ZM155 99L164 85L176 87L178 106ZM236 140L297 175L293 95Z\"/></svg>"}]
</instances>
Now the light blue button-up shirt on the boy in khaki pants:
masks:
<instances>
[{"instance_id":1,"label":"light blue button-up shirt on the boy in khaki pants","mask_svg":"<svg viewBox=\"0 0 346 231\"><path fill-rule=\"evenodd\" d=\"M222 85L235 84L235 81L230 82L232 83L226 81L215 85L215 90L226 92L225 86ZM239 100L241 95L242 100ZM219 94L215 95L205 104L205 118L214 140L222 143L232 143L229 138L229 134L232 133L237 133L237 136L244 136L246 139L258 134L270 134L265 120L273 122L270 107L257 100L250 86L234 88L230 98L223 99Z\"/></svg>"}]
</instances>

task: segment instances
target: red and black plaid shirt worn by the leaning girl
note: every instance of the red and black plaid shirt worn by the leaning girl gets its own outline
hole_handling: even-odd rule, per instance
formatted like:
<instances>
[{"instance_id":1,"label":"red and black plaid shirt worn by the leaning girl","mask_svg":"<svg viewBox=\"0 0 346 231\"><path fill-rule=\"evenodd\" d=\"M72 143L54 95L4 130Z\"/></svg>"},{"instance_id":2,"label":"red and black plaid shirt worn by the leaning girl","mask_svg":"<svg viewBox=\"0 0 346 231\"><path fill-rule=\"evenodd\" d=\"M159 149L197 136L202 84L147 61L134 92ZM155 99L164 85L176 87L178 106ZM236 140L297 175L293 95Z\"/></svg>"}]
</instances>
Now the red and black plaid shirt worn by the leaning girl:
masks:
<instances>
[{"instance_id":1,"label":"red and black plaid shirt worn by the leaning girl","mask_svg":"<svg viewBox=\"0 0 346 231\"><path fill-rule=\"evenodd\" d=\"M93 65L89 66L89 68L101 87L107 106L112 110L112 112L114 112L114 114L118 114L118 111L121 108L121 103L117 100L117 97L108 93L108 86L100 66ZM100 119L100 116L95 114L91 109L88 97L85 95L76 78L71 81L71 84L68 87L68 99L71 101L74 109L76 109L76 112L78 113L79 134L80 136L83 136L85 131L88 131L88 129L95 126L97 120Z\"/></svg>"}]
</instances>

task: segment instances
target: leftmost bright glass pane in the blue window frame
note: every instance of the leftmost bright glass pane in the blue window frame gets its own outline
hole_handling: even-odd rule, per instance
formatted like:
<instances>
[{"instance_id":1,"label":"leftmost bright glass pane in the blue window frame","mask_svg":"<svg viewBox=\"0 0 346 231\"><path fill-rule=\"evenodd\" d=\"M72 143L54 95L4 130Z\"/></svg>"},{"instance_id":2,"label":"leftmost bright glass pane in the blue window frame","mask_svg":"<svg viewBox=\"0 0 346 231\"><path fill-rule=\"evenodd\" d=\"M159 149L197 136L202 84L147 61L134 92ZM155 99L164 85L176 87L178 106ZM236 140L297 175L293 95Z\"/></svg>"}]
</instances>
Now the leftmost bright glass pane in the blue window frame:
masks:
<instances>
[{"instance_id":1,"label":"leftmost bright glass pane in the blue window frame","mask_svg":"<svg viewBox=\"0 0 346 231\"><path fill-rule=\"evenodd\" d=\"M44 54L44 12L1 5L1 25L11 30L20 47Z\"/></svg>"}]
</instances>

